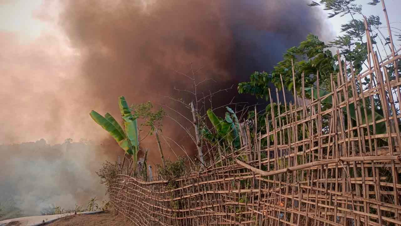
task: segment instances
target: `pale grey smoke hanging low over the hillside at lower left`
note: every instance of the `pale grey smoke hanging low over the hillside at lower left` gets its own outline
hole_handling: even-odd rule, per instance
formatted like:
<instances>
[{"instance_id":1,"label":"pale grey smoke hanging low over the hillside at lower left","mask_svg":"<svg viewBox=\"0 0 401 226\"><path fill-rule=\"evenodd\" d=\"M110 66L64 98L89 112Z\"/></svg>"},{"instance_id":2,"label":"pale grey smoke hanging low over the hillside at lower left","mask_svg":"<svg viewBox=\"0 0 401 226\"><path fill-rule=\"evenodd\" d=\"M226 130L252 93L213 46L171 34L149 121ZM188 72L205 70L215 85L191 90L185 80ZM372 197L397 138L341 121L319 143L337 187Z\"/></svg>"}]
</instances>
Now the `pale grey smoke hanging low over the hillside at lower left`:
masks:
<instances>
[{"instance_id":1,"label":"pale grey smoke hanging low over the hillside at lower left","mask_svg":"<svg viewBox=\"0 0 401 226\"><path fill-rule=\"evenodd\" d=\"M0 155L10 156L0 171L1 218L39 215L57 205L85 209L92 197L101 204L105 191L95 171L108 148L84 141L49 145L44 139L0 145Z\"/></svg>"}]
</instances>

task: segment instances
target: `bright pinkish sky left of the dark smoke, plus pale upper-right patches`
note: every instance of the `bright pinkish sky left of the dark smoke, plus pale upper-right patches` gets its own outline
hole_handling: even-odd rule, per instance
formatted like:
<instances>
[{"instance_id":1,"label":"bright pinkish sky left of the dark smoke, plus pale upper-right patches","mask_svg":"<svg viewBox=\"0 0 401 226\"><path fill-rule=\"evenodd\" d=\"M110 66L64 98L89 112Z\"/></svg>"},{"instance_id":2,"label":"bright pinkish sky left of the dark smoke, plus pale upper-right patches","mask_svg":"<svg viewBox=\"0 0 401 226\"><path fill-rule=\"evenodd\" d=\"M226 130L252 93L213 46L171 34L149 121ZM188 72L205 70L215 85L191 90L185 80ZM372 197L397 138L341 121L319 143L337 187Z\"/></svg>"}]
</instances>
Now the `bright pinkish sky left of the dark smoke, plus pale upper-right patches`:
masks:
<instances>
[{"instance_id":1,"label":"bright pinkish sky left of the dark smoke, plus pale upper-right patches","mask_svg":"<svg viewBox=\"0 0 401 226\"><path fill-rule=\"evenodd\" d=\"M365 14L379 14L384 21L381 5L370 6L366 4L370 1L365 0L357 2L363 4ZM146 3L152 4L149 1ZM107 136L105 133L93 132L99 129L85 119L87 114L77 114L81 109L73 107L85 95L85 81L78 74L86 53L71 45L71 37L60 24L59 17L65 5L65 1L59 0L0 0L0 73L3 77L0 102L7 103L3 106L7 110L3 110L0 116L9 120L0 122L0 144L40 138L56 143L66 138L79 139L80 136L89 140ZM400 28L401 18L397 13L401 1L386 0L386 5L391 25ZM318 7L316 10L319 10ZM346 16L327 19L325 23L328 32L323 39L330 41L330 38L340 35L340 25L348 19ZM107 49L101 51L106 53ZM69 90L71 87L83 92L72 92ZM61 109L57 104L60 102L71 105L71 108ZM12 109L20 111L18 118ZM72 116L82 119L81 123L69 123L67 120ZM54 120L50 119L59 120L63 128L51 125ZM27 131L30 123L37 126ZM10 127L18 132L18 136L9 131ZM91 132L78 132L83 129Z\"/></svg>"}]
</instances>

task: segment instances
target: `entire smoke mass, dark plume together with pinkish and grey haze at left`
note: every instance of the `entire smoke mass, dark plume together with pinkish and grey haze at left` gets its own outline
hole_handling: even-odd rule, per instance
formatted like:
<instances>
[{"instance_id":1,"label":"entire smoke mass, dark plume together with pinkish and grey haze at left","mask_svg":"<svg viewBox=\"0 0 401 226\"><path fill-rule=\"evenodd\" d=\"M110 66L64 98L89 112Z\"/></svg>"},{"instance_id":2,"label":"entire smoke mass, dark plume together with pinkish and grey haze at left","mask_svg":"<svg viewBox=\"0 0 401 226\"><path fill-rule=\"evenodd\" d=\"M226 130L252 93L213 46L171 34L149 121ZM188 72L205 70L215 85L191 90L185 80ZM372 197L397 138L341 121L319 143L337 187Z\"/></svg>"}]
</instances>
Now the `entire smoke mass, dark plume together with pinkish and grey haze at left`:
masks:
<instances>
[{"instance_id":1,"label":"entire smoke mass, dark plume together with pinkish and grey haze at left","mask_svg":"<svg viewBox=\"0 0 401 226\"><path fill-rule=\"evenodd\" d=\"M284 51L298 45L308 33L322 35L322 16L307 3L74 0L61 3L57 26L62 36L44 33L32 47L18 43L10 33L0 33L4 46L0 62L5 62L0 72L6 75L0 90L0 144L41 138L51 144L66 138L113 144L109 152L71 146L68 151L56 152L61 154L51 154L53 157L36 143L21 144L18 151L2 146L8 149L0 152L0 172L6 168L9 173L1 174L0 191L7 190L22 200L18 205L23 210L29 210L32 203L69 199L62 198L65 194L77 200L89 197L99 186L91 177L100 160L115 160L116 153L122 154L91 120L91 109L117 117L121 95L130 104L152 101L156 106L168 103L182 109L161 96L191 101L186 92L174 90L193 88L192 81L177 71L192 76L192 70L199 68L198 81L213 78L216 82L205 82L198 94L234 85L229 94L213 97L214 105L228 103L238 82L247 80L254 71L271 70ZM184 132L168 119L163 132L186 142L181 139ZM166 150L166 156L174 155ZM157 149L150 149L150 157L159 161ZM22 173L26 171L31 173ZM45 173L49 171L55 173ZM26 180L32 172L39 176ZM61 202L55 204L63 205Z\"/></svg>"}]
</instances>

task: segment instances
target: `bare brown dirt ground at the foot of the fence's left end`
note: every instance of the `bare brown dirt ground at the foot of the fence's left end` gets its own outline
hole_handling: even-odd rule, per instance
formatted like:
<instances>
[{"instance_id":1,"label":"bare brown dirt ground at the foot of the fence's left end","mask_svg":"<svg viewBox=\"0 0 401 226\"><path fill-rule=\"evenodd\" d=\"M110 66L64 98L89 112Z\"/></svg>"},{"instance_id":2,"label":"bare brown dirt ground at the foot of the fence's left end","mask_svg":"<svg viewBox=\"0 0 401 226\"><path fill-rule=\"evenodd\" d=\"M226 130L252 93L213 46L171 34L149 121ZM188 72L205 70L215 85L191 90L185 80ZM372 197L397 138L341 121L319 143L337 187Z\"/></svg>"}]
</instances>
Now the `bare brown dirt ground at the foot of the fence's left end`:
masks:
<instances>
[{"instance_id":1,"label":"bare brown dirt ground at the foot of the fence's left end","mask_svg":"<svg viewBox=\"0 0 401 226\"><path fill-rule=\"evenodd\" d=\"M99 214L77 214L60 218L46 226L125 226L132 225L132 222L126 221L122 216L115 216L113 211L106 211Z\"/></svg>"}]
</instances>

